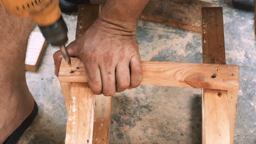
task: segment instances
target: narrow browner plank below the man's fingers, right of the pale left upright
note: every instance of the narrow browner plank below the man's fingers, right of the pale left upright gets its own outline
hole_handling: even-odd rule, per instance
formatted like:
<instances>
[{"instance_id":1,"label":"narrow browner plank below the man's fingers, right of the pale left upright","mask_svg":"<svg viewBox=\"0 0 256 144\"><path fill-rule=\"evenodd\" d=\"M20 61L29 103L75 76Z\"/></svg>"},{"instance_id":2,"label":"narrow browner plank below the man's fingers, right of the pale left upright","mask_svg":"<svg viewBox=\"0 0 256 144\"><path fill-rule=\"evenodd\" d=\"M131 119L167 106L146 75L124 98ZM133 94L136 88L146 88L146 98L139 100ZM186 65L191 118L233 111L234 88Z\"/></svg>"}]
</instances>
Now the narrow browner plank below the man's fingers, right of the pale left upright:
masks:
<instances>
[{"instance_id":1,"label":"narrow browner plank below the man's fingers, right of the pale left upright","mask_svg":"<svg viewBox=\"0 0 256 144\"><path fill-rule=\"evenodd\" d=\"M111 120L112 97L96 95L94 115L94 135L92 143L108 143Z\"/></svg>"}]
</instances>

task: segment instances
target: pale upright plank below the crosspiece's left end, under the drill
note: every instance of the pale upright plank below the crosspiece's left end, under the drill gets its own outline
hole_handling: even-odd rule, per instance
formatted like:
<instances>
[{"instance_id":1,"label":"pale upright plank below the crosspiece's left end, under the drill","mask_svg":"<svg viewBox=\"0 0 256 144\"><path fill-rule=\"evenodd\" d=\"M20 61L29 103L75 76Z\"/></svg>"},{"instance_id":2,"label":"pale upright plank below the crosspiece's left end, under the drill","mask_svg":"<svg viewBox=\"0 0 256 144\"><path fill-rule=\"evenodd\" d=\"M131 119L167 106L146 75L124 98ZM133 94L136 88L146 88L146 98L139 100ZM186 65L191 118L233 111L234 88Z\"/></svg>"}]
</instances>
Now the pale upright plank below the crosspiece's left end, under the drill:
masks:
<instances>
[{"instance_id":1,"label":"pale upright plank below the crosspiece's left end, under the drill","mask_svg":"<svg viewBox=\"0 0 256 144\"><path fill-rule=\"evenodd\" d=\"M92 143L95 95L87 83L71 83L65 143Z\"/></svg>"}]
</instances>

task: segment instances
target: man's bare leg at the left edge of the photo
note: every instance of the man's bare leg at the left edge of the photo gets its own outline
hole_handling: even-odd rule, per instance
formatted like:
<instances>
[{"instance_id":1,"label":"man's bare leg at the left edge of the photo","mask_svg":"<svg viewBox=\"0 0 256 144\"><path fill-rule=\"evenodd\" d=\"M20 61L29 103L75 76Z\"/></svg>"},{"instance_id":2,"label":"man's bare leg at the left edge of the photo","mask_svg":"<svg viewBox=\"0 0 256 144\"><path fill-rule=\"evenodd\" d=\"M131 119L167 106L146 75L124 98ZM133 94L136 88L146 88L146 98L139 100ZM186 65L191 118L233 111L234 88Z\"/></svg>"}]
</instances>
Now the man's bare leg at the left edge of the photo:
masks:
<instances>
[{"instance_id":1,"label":"man's bare leg at the left edge of the photo","mask_svg":"<svg viewBox=\"0 0 256 144\"><path fill-rule=\"evenodd\" d=\"M25 77L30 20L10 17L0 7L0 143L30 115L34 107Z\"/></svg>"}]
</instances>

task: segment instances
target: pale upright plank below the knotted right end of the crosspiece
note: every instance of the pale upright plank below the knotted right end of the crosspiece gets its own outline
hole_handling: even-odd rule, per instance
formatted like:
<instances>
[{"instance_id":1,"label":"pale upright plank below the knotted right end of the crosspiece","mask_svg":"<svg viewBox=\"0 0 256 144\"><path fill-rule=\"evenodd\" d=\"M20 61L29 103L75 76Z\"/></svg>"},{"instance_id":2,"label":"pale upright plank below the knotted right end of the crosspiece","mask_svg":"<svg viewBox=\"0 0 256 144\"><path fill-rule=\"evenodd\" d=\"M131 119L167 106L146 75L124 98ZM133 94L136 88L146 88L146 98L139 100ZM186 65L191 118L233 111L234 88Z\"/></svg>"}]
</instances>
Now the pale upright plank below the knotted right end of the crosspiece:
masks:
<instances>
[{"instance_id":1,"label":"pale upright plank below the knotted right end of the crosspiece","mask_svg":"<svg viewBox=\"0 0 256 144\"><path fill-rule=\"evenodd\" d=\"M227 91L204 89L205 142L230 143Z\"/></svg>"}]
</instances>

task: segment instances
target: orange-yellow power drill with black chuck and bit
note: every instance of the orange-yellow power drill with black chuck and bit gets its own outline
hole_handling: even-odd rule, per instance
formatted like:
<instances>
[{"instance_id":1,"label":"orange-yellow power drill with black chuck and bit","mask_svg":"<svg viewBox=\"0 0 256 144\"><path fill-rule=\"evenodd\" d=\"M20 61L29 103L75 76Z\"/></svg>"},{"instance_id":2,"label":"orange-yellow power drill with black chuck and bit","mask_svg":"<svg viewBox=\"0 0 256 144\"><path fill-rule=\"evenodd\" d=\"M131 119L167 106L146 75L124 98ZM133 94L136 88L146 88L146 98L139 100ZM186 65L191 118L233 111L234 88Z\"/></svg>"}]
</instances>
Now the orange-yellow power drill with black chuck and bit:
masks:
<instances>
[{"instance_id":1,"label":"orange-yellow power drill with black chuck and bit","mask_svg":"<svg viewBox=\"0 0 256 144\"><path fill-rule=\"evenodd\" d=\"M36 21L48 43L60 46L61 53L71 65L65 44L67 25L61 16L59 0L0 0L2 8L10 15L28 17Z\"/></svg>"}]
</instances>

